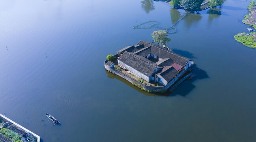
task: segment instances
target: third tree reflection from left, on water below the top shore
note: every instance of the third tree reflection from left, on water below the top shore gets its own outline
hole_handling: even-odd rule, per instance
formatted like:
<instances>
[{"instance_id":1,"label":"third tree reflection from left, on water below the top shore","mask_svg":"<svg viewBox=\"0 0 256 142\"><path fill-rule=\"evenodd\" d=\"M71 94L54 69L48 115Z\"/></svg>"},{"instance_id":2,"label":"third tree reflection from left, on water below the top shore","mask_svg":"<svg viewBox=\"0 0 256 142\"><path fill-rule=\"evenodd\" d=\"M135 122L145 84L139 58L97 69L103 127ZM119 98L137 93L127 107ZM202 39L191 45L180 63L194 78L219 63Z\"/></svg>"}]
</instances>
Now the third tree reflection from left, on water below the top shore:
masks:
<instances>
[{"instance_id":1,"label":"third tree reflection from left, on water below the top shore","mask_svg":"<svg viewBox=\"0 0 256 142\"><path fill-rule=\"evenodd\" d=\"M184 18L185 25L187 28L190 28L190 26L193 24L193 22L198 22L202 19L202 15L199 13L199 11L190 11L187 13L187 16Z\"/></svg>"}]
</instances>

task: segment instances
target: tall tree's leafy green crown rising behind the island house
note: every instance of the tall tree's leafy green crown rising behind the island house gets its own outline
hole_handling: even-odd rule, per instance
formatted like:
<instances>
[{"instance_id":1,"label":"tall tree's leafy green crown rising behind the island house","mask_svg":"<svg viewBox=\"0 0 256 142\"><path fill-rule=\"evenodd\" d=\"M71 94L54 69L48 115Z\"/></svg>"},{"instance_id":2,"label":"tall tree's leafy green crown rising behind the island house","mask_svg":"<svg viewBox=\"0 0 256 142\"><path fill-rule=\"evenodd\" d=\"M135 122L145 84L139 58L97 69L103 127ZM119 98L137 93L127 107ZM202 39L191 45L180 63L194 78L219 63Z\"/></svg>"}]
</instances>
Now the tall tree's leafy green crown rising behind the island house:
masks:
<instances>
[{"instance_id":1,"label":"tall tree's leafy green crown rising behind the island house","mask_svg":"<svg viewBox=\"0 0 256 142\"><path fill-rule=\"evenodd\" d=\"M169 43L171 41L171 39L168 38L167 36L168 34L165 30L154 31L152 34L154 42L158 43L158 46L159 46L159 43L161 45L166 45L166 43Z\"/></svg>"}]
</instances>

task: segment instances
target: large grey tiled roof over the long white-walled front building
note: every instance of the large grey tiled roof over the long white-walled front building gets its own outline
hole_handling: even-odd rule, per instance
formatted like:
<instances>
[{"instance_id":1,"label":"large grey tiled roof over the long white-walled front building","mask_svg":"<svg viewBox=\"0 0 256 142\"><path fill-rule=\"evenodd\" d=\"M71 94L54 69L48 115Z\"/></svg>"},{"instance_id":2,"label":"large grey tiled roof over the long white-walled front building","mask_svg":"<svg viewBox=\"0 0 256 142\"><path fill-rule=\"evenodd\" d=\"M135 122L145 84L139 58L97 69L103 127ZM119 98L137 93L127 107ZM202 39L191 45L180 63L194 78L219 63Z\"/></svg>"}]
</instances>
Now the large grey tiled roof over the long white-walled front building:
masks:
<instances>
[{"instance_id":1,"label":"large grey tiled roof over the long white-walled front building","mask_svg":"<svg viewBox=\"0 0 256 142\"><path fill-rule=\"evenodd\" d=\"M118 59L124 64L129 65L133 69L136 69L140 73L149 77L156 69L156 64L143 56L124 52Z\"/></svg>"}]
</instances>

